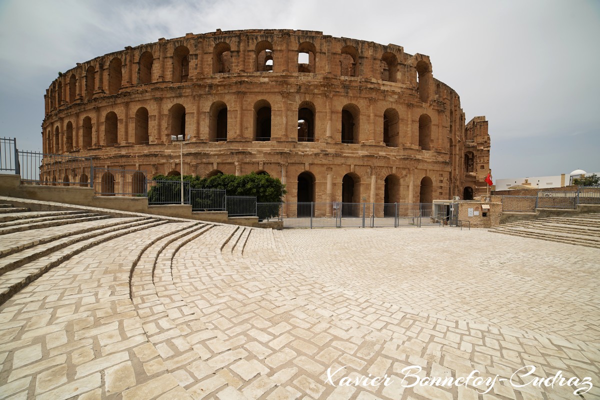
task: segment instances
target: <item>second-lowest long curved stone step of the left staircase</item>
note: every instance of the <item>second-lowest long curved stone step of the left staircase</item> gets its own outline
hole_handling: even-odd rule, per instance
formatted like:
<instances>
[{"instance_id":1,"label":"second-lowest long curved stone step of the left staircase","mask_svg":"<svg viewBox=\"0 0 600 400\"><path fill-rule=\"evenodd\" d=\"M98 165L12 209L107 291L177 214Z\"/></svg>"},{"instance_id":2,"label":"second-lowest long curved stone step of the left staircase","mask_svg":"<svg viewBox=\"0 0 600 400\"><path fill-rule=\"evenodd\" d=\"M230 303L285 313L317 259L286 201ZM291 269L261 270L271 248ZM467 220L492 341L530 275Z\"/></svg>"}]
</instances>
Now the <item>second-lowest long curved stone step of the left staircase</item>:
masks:
<instances>
[{"instance_id":1,"label":"second-lowest long curved stone step of the left staircase","mask_svg":"<svg viewBox=\"0 0 600 400\"><path fill-rule=\"evenodd\" d=\"M69 245L72 245L83 240L91 239L101 234L110 233L116 230L121 230L130 227L142 227L142 225L158 221L158 218L130 218L125 221L113 221L112 225L104 228L95 229L92 231L84 231L80 234L73 234L66 237L60 237L52 242L43 243L37 246L32 246L22 251L15 252L14 254L8 255L7 257L0 258L0 275L14 270L26 263L37 260L37 258L44 257L45 255L51 254L52 252L58 251Z\"/></svg>"}]
</instances>

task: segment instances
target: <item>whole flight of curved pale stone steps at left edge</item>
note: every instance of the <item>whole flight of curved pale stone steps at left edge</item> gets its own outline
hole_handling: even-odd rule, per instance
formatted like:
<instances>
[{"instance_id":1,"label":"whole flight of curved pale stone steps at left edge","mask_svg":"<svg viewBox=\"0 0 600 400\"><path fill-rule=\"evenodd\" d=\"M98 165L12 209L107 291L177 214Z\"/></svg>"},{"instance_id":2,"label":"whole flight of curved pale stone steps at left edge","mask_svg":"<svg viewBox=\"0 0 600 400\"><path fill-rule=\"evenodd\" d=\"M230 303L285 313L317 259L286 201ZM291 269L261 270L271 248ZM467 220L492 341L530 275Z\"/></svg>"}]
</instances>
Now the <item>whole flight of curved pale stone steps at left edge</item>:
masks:
<instances>
[{"instance_id":1,"label":"whole flight of curved pale stone steps at left edge","mask_svg":"<svg viewBox=\"0 0 600 400\"><path fill-rule=\"evenodd\" d=\"M0 304L76 254L168 221L86 211L31 211L0 204Z\"/></svg>"}]
</instances>

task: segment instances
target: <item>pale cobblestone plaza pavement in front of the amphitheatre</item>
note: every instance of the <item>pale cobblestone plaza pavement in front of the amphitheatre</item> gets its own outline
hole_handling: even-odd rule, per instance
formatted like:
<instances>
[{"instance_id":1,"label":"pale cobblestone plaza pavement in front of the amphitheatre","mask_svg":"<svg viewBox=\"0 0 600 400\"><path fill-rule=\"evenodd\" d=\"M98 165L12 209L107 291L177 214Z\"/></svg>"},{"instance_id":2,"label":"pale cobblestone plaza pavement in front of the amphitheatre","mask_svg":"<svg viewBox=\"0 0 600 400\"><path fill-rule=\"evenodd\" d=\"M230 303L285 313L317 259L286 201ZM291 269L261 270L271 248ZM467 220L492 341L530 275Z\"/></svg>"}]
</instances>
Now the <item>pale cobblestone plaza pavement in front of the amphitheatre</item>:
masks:
<instances>
[{"instance_id":1,"label":"pale cobblestone plaza pavement in front of the amphitheatre","mask_svg":"<svg viewBox=\"0 0 600 400\"><path fill-rule=\"evenodd\" d=\"M485 230L161 225L0 307L0 398L600 398L599 260ZM532 382L558 371L593 388ZM496 380L426 384L470 374ZM388 380L340 385L361 377Z\"/></svg>"}]
</instances>

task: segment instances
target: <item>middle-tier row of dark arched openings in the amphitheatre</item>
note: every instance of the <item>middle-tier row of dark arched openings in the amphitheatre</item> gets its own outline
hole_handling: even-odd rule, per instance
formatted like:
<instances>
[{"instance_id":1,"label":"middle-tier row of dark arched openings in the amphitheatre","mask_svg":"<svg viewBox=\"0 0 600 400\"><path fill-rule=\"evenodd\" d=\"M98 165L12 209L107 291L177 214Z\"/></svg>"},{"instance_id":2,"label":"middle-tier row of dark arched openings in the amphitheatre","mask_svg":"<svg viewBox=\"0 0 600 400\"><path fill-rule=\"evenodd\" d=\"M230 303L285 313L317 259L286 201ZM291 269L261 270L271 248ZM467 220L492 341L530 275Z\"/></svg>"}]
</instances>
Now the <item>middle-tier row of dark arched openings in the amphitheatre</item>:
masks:
<instances>
[{"instance_id":1,"label":"middle-tier row of dark arched openings in the amphitheatre","mask_svg":"<svg viewBox=\"0 0 600 400\"><path fill-rule=\"evenodd\" d=\"M272 109L266 100L259 100L253 106L253 140L270 141L272 137ZM298 142L314 142L316 130L317 110L310 101L303 101L298 106ZM208 140L210 142L224 142L228 139L229 109L223 101L211 104L208 113ZM176 103L170 107L167 115L168 131L170 135L179 136L186 133L186 109L182 104ZM150 115L146 107L139 107L134 114L134 133L130 142L134 145L150 143ZM341 110L341 143L358 144L360 137L361 110L356 104L346 104ZM83 118L81 135L81 149L87 149L94 144L111 147L119 143L119 118L113 111L104 116L104 131L98 132L98 143L94 143L92 133L92 119ZM68 121L64 132L64 145L61 145L61 132L59 127L54 132L48 130L44 150L48 153L70 152L74 150L73 122ZM400 115L396 109L389 108L383 113L383 143L386 146L397 147L400 145ZM133 140L132 140L133 139ZM419 116L418 145L422 150L431 150L431 117L427 114Z\"/></svg>"}]
</instances>

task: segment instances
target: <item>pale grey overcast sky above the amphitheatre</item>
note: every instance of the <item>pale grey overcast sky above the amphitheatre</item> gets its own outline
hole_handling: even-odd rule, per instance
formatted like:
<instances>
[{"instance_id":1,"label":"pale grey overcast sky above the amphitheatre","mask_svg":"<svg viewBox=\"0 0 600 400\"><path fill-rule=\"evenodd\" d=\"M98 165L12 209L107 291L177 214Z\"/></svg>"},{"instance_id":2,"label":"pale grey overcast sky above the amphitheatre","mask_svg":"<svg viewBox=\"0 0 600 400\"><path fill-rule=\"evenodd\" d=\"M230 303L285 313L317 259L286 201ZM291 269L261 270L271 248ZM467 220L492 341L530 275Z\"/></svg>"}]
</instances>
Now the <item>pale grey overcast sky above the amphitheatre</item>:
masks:
<instances>
[{"instance_id":1,"label":"pale grey overcast sky above the amphitheatre","mask_svg":"<svg viewBox=\"0 0 600 400\"><path fill-rule=\"evenodd\" d=\"M600 1L0 0L0 126L41 150L43 96L77 62L187 32L307 29L430 56L494 179L600 172Z\"/></svg>"}]
</instances>

